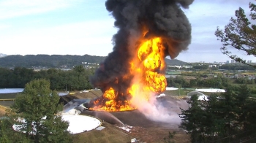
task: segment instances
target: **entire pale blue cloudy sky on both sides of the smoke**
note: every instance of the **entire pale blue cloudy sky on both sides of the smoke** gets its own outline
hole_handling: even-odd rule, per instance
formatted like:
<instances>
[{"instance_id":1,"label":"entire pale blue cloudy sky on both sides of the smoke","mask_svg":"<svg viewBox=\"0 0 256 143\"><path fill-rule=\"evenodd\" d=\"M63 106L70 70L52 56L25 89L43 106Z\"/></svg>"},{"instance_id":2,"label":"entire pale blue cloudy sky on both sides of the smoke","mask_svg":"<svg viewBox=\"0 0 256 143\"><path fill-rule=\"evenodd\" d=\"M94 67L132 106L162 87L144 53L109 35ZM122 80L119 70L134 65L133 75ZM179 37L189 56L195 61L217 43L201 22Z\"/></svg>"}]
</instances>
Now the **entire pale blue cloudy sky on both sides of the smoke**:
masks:
<instances>
[{"instance_id":1,"label":"entire pale blue cloudy sky on both sides of the smoke","mask_svg":"<svg viewBox=\"0 0 256 143\"><path fill-rule=\"evenodd\" d=\"M192 43L176 59L227 61L214 35L238 7L249 14L250 0L195 0L184 9L192 25ZM112 51L117 29L105 0L0 0L0 53L7 55L100 55ZM246 60L256 58L234 51Z\"/></svg>"}]
</instances>

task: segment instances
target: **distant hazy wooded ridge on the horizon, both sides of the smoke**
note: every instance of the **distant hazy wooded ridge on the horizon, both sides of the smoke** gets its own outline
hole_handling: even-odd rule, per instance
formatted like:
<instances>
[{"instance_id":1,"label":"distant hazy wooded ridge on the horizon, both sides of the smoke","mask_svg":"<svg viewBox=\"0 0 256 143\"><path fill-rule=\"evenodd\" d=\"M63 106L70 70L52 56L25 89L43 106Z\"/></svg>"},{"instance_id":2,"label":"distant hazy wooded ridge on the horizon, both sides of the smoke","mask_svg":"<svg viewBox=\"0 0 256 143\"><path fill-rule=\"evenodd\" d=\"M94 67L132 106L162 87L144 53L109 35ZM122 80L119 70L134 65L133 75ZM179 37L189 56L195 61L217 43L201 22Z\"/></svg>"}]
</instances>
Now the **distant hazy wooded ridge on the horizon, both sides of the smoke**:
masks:
<instances>
[{"instance_id":1,"label":"distant hazy wooded ridge on the horizon, both sides of the smoke","mask_svg":"<svg viewBox=\"0 0 256 143\"><path fill-rule=\"evenodd\" d=\"M96 55L7 55L0 58L0 67L48 67L48 68L58 68L58 67L72 67L82 64L82 62L87 63L101 63L106 57L96 56ZM165 59L167 65L185 65L186 62L179 60Z\"/></svg>"}]
</instances>

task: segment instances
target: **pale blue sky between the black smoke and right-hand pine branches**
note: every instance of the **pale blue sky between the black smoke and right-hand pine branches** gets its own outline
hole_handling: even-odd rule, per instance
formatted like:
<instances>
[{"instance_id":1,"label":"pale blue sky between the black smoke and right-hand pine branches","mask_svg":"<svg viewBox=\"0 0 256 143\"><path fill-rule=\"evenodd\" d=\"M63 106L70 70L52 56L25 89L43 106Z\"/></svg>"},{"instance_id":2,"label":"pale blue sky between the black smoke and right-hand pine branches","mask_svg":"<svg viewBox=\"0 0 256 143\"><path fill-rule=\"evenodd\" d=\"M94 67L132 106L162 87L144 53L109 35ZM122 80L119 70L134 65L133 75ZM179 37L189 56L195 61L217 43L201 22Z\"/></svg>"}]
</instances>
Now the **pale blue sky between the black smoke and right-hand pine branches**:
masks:
<instances>
[{"instance_id":1,"label":"pale blue sky between the black smoke and right-hand pine branches","mask_svg":"<svg viewBox=\"0 0 256 143\"><path fill-rule=\"evenodd\" d=\"M249 15L250 0L195 0L189 9L184 9L187 18L192 24L192 43L189 50L178 55L182 61L227 61L230 58L219 50L222 43L217 40L214 32L217 26L223 29L231 17L235 17L235 11L241 7L246 15ZM232 49L231 49L232 50ZM241 55L241 51L233 50ZM256 58L242 54L241 57L256 61Z\"/></svg>"}]
</instances>

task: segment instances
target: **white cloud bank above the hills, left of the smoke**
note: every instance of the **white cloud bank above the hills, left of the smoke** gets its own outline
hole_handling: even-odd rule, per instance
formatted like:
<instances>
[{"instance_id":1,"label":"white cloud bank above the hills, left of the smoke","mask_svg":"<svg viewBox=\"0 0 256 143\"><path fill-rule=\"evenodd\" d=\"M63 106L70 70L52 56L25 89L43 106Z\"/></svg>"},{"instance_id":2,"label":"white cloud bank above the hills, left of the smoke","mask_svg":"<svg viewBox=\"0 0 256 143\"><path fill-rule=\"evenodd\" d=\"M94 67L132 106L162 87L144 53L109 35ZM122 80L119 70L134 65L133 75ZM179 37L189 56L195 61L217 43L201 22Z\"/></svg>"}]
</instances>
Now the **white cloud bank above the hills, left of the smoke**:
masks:
<instances>
[{"instance_id":1,"label":"white cloud bank above the hills, left of the smoke","mask_svg":"<svg viewBox=\"0 0 256 143\"><path fill-rule=\"evenodd\" d=\"M112 51L113 34L116 34L116 29L113 28L112 19L91 20L0 36L0 47L3 47L1 53L10 55L15 53L105 56Z\"/></svg>"}]
</instances>

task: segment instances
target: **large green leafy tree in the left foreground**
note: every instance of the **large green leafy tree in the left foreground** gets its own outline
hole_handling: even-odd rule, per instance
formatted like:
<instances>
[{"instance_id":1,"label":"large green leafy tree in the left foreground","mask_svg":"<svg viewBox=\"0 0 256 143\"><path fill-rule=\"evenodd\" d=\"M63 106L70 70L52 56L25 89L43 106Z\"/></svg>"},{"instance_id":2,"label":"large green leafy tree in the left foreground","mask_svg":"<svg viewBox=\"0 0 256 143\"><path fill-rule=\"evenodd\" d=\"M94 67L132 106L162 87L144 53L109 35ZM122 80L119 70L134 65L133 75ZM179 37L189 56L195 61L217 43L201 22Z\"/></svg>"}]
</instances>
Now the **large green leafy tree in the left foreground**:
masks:
<instances>
[{"instance_id":1,"label":"large green leafy tree in the left foreground","mask_svg":"<svg viewBox=\"0 0 256 143\"><path fill-rule=\"evenodd\" d=\"M23 93L16 97L8 117L22 125L20 131L26 133L26 139L33 142L71 142L67 131L69 123L61 120L59 115L62 108L59 96L56 91L50 90L48 80L32 80L26 84Z\"/></svg>"}]
</instances>

